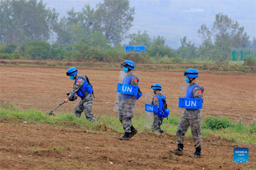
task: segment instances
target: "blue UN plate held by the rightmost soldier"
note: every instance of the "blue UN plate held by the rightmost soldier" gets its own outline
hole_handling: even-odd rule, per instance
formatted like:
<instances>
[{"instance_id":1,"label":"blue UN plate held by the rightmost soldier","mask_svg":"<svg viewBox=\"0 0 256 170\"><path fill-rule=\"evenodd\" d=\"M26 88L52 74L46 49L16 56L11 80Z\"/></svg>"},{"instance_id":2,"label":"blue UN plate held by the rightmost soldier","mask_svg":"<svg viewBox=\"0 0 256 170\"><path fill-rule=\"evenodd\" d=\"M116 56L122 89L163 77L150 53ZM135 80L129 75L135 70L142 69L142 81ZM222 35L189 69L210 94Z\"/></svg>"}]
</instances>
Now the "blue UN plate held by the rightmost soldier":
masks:
<instances>
[{"instance_id":1,"label":"blue UN plate held by the rightmost soldier","mask_svg":"<svg viewBox=\"0 0 256 170\"><path fill-rule=\"evenodd\" d=\"M186 109L201 109L203 108L203 99L194 99L194 98L179 98L179 108Z\"/></svg>"}]
</instances>

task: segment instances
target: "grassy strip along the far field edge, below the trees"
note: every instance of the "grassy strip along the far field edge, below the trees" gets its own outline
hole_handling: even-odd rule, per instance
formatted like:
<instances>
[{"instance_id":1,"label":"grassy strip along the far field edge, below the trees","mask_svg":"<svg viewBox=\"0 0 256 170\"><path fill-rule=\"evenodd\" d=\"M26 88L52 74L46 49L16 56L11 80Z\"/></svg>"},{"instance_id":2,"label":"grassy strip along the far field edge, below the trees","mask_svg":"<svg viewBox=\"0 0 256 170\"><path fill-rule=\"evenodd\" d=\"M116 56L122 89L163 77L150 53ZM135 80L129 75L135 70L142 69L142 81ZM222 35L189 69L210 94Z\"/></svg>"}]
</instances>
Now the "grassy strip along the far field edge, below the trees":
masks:
<instances>
[{"instance_id":1,"label":"grassy strip along the far field edge, below the trees","mask_svg":"<svg viewBox=\"0 0 256 170\"><path fill-rule=\"evenodd\" d=\"M220 72L238 72L238 73L256 73L255 65L243 65L243 63L213 63L206 61L184 61L183 63L153 63L136 62L136 69L159 69L159 70L187 70L188 68L195 68L197 70L220 71ZM120 62L83 62L83 61L61 61L61 60L1 60L0 65L29 65L29 66L50 66L50 67L70 67L76 65L77 67L89 68L121 68Z\"/></svg>"}]
</instances>

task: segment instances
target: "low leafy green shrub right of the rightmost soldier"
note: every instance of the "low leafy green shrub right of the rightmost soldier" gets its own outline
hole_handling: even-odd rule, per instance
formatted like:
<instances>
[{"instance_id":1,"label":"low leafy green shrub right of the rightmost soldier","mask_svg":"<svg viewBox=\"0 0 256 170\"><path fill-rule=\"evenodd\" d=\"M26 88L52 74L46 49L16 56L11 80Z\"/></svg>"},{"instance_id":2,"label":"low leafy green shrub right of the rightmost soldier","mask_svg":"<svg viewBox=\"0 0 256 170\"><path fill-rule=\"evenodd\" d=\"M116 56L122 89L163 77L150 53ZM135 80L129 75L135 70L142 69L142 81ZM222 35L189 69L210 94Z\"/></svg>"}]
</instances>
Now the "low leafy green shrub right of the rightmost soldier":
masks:
<instances>
[{"instance_id":1,"label":"low leafy green shrub right of the rightmost soldier","mask_svg":"<svg viewBox=\"0 0 256 170\"><path fill-rule=\"evenodd\" d=\"M228 120L226 117L216 118L214 116L209 116L204 119L202 124L202 128L204 129L225 129L230 127L232 122Z\"/></svg>"}]
</instances>

